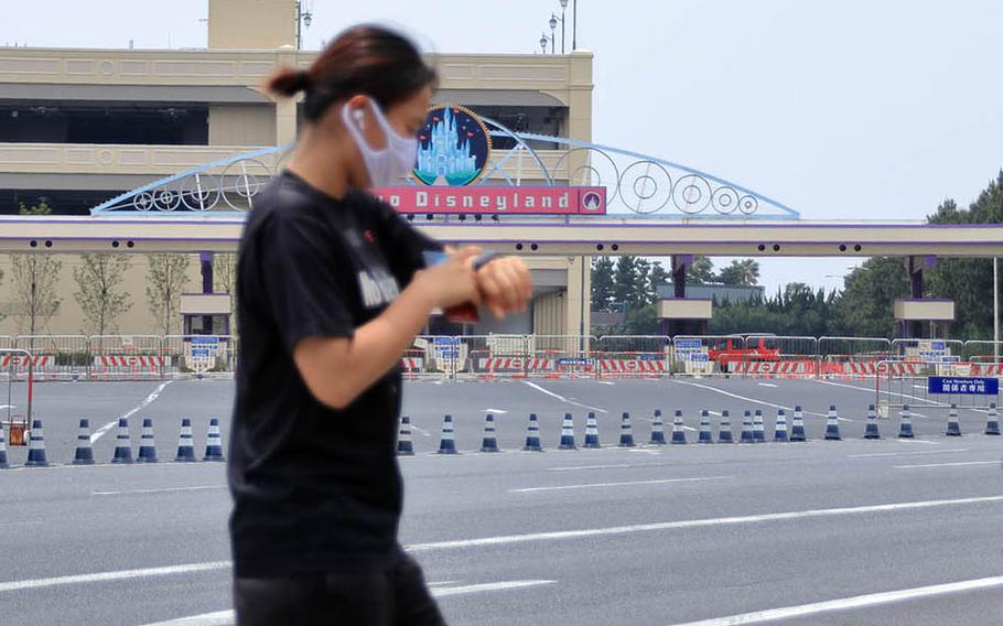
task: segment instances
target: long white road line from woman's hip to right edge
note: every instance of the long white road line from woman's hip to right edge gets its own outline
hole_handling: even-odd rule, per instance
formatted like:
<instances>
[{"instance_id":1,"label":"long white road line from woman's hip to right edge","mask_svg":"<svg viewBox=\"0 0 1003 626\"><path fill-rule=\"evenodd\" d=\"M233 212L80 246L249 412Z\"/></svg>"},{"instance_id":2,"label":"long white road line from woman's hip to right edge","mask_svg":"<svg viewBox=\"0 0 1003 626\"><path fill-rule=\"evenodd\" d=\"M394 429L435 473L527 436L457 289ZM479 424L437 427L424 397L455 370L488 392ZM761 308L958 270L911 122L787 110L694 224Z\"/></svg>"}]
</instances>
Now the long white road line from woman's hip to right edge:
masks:
<instances>
[{"instance_id":1,"label":"long white road line from woman's hip to right edge","mask_svg":"<svg viewBox=\"0 0 1003 626\"><path fill-rule=\"evenodd\" d=\"M514 543L529 543L535 541L554 541L561 539L581 539L583 537L604 537L610 535L628 535L633 532L653 532L658 530L681 530L690 528L709 528L715 526L737 526L744 524L762 524L768 521L787 521L791 519L842 517L873 512L898 512L904 510L921 510L940 507L955 507L964 505L982 505L1003 503L1003 496L985 496L979 498L958 498L952 500L919 500L910 503L892 503L884 505L864 505L859 507L842 507L831 509L810 509L787 512L773 512L763 515L746 515L736 517L716 517L705 519L683 519L678 521L660 521L655 524L638 524L633 526L613 526L607 528L584 528L581 530L554 530L550 532L528 532L525 535L503 535L498 537L482 537L477 539L456 539L453 541L436 541L430 543L414 543L407 546L409 552L429 552L434 550L454 550L462 548L486 548L494 546L510 546Z\"/></svg>"}]
</instances>

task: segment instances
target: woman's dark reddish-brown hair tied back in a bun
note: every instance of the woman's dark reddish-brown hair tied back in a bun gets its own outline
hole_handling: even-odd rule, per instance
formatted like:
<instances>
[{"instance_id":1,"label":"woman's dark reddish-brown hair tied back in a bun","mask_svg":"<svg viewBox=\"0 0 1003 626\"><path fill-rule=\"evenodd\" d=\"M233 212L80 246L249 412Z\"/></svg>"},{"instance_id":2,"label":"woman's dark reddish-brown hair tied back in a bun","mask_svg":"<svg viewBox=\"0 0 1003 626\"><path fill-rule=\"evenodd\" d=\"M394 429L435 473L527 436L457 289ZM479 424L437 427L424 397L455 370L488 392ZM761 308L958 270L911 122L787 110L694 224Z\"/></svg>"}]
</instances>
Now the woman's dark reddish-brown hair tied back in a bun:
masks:
<instances>
[{"instance_id":1,"label":"woman's dark reddish-brown hair tied back in a bun","mask_svg":"<svg viewBox=\"0 0 1003 626\"><path fill-rule=\"evenodd\" d=\"M386 109L435 80L435 71L407 37L362 24L335 37L309 69L279 69L267 89L285 97L305 91L303 110L309 121L315 121L331 105L356 94L371 96Z\"/></svg>"}]
</instances>

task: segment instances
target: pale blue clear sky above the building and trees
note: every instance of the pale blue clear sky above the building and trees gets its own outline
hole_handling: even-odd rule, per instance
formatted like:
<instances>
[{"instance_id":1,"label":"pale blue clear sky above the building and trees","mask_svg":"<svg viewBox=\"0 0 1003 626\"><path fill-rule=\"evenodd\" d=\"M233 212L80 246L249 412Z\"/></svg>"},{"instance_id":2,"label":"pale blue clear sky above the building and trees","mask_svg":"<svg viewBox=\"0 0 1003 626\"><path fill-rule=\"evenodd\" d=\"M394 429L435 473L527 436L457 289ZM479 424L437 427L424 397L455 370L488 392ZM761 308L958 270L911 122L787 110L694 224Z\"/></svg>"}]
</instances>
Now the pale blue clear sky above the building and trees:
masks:
<instances>
[{"instance_id":1,"label":"pale blue clear sky above the building and trees","mask_svg":"<svg viewBox=\"0 0 1003 626\"><path fill-rule=\"evenodd\" d=\"M304 2L308 48L368 21L430 52L538 53L560 14L559 0ZM207 0L25 7L0 0L0 44L206 44ZM595 55L595 142L715 174L802 219L923 219L948 197L967 206L1003 168L999 0L578 0L576 31ZM761 260L761 282L831 289L858 262Z\"/></svg>"}]
</instances>

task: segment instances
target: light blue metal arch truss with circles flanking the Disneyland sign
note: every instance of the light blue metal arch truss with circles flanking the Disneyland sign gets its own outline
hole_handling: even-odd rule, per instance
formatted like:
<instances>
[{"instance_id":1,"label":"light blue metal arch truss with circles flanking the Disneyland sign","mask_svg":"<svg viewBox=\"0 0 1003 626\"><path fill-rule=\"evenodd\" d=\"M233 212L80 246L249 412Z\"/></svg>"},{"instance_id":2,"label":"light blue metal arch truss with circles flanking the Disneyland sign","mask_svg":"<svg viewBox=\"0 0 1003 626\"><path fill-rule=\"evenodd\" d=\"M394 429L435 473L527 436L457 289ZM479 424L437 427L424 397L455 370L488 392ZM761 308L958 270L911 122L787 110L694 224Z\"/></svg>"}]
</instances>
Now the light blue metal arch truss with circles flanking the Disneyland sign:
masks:
<instances>
[{"instance_id":1,"label":"light blue metal arch truss with circles flanking the Disneyland sign","mask_svg":"<svg viewBox=\"0 0 1003 626\"><path fill-rule=\"evenodd\" d=\"M612 215L637 214L681 218L796 219L792 208L718 176L628 150L562 137L515 132L484 119L490 136L514 143L494 150L476 185L594 185L606 187ZM559 148L542 153L535 144ZM153 181L90 209L91 215L242 214L265 183L284 166L291 145L266 148L213 161ZM552 164L548 169L547 161ZM411 181L411 184L417 184Z\"/></svg>"}]
</instances>

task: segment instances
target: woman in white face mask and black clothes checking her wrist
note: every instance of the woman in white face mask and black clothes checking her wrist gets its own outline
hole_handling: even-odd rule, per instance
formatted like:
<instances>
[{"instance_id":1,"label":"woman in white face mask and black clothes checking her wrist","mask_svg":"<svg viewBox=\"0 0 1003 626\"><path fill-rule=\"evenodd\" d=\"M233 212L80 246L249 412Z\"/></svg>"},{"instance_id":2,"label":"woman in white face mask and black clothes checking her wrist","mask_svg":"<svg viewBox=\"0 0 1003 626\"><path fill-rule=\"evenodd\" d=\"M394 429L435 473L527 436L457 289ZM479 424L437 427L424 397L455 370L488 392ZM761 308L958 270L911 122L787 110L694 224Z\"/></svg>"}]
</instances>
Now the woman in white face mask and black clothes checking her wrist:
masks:
<instances>
[{"instance_id":1,"label":"woman in white face mask and black clothes checking her wrist","mask_svg":"<svg viewBox=\"0 0 1003 626\"><path fill-rule=\"evenodd\" d=\"M475 271L471 248L424 269L439 246L365 191L414 163L434 83L406 39L356 26L268 85L305 93L306 123L240 244L229 483L244 626L444 623L397 540L398 364L434 309L504 316L531 285L518 259Z\"/></svg>"}]
</instances>

